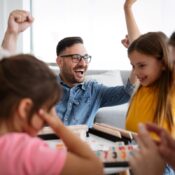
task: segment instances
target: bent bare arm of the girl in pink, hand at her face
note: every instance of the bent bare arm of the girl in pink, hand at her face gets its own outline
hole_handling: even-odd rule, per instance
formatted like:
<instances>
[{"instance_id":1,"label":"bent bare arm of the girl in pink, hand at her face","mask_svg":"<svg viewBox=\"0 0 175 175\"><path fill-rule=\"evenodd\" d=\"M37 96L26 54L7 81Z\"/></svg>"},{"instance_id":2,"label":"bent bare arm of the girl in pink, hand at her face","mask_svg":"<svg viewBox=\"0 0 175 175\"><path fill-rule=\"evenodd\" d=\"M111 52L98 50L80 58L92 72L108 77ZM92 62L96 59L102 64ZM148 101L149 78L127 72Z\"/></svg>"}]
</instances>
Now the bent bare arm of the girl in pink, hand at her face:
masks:
<instances>
[{"instance_id":1,"label":"bent bare arm of the girl in pink, hand at her face","mask_svg":"<svg viewBox=\"0 0 175 175\"><path fill-rule=\"evenodd\" d=\"M63 140L68 149L67 159L61 173L62 175L103 174L102 163L96 157L95 153L93 153L86 143L66 128L58 116L47 114L43 110L40 110L39 114Z\"/></svg>"}]
</instances>

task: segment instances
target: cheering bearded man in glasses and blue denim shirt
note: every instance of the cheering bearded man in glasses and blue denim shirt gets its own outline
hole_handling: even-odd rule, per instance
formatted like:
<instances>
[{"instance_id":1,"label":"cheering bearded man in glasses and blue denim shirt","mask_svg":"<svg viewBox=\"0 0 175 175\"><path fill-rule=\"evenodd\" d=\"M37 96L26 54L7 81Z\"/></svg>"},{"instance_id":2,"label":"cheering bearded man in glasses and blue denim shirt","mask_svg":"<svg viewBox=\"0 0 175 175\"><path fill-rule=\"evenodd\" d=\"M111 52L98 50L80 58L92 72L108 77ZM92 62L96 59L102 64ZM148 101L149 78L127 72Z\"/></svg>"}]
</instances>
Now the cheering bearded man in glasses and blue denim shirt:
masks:
<instances>
[{"instance_id":1,"label":"cheering bearded man in glasses and blue denim shirt","mask_svg":"<svg viewBox=\"0 0 175 175\"><path fill-rule=\"evenodd\" d=\"M60 68L58 82L63 88L56 112L64 124L92 127L99 108L129 101L135 83L133 75L126 86L106 87L94 81L84 81L91 56L80 37L64 38L58 43L56 52Z\"/></svg>"}]
</instances>

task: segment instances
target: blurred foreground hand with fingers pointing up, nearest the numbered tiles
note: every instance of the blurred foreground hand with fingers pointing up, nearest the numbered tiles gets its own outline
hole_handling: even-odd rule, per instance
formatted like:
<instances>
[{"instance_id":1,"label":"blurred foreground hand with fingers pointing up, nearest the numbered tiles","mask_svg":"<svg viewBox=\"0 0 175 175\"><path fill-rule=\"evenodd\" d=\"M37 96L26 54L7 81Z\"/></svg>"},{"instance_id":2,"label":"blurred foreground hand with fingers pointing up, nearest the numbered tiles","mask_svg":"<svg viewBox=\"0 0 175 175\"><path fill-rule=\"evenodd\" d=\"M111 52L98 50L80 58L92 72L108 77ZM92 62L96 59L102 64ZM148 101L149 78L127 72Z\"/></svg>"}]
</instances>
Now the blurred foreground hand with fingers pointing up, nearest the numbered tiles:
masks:
<instances>
[{"instance_id":1,"label":"blurred foreground hand with fingers pointing up, nearest the numbered tiles","mask_svg":"<svg viewBox=\"0 0 175 175\"><path fill-rule=\"evenodd\" d=\"M136 139L140 150L135 151L130 158L130 165L135 175L162 175L165 162L161 158L158 148L151 139L144 125L140 125Z\"/></svg>"}]
</instances>

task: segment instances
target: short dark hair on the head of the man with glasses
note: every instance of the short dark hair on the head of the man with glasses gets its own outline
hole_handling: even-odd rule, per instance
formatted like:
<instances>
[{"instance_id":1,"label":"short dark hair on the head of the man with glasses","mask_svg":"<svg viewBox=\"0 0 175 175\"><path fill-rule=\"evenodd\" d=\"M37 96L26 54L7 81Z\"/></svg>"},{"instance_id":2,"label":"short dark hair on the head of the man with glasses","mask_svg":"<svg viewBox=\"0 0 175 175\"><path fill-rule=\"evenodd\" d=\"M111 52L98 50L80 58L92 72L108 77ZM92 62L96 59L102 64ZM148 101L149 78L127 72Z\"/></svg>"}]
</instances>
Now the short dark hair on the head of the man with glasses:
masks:
<instances>
[{"instance_id":1,"label":"short dark hair on the head of the man with glasses","mask_svg":"<svg viewBox=\"0 0 175 175\"><path fill-rule=\"evenodd\" d=\"M62 51L64 51L67 47L71 47L74 44L81 43L83 44L83 39L81 37L67 37L63 38L58 42L56 47L57 56L60 55Z\"/></svg>"}]
</instances>

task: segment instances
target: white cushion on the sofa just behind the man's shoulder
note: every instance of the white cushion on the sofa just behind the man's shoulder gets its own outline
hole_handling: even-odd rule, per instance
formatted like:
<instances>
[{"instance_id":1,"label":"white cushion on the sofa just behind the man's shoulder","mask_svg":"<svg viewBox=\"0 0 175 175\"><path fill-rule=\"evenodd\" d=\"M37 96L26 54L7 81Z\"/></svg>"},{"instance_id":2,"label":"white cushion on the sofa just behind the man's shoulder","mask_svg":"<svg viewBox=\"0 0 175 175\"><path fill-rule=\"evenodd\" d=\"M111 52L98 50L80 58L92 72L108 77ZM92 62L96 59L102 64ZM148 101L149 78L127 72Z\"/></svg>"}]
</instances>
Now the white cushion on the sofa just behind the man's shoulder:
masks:
<instances>
[{"instance_id":1,"label":"white cushion on the sofa just behind the man's shoulder","mask_svg":"<svg viewBox=\"0 0 175 175\"><path fill-rule=\"evenodd\" d=\"M98 83L102 83L106 86L123 85L120 70L111 70L101 74L86 75L85 80L96 80Z\"/></svg>"}]
</instances>

